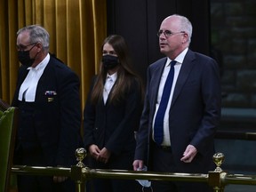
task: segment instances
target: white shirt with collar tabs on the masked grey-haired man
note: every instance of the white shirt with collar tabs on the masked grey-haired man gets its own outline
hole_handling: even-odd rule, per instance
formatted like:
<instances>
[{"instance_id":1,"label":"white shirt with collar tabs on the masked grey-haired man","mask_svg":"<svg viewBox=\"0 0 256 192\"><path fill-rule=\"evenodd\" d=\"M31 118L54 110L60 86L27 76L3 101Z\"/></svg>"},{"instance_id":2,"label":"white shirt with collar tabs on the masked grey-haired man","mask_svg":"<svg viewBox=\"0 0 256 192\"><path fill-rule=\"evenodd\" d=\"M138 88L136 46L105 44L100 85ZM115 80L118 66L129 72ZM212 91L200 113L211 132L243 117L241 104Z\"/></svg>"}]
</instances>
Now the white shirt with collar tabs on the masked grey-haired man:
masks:
<instances>
[{"instance_id":1,"label":"white shirt with collar tabs on the masked grey-haired man","mask_svg":"<svg viewBox=\"0 0 256 192\"><path fill-rule=\"evenodd\" d=\"M40 77L44 72L44 68L47 66L50 60L50 54L39 63L36 68L29 67L28 76L26 76L25 80L20 86L20 92L18 100L25 100L27 102L35 102L36 99L36 87Z\"/></svg>"}]
</instances>

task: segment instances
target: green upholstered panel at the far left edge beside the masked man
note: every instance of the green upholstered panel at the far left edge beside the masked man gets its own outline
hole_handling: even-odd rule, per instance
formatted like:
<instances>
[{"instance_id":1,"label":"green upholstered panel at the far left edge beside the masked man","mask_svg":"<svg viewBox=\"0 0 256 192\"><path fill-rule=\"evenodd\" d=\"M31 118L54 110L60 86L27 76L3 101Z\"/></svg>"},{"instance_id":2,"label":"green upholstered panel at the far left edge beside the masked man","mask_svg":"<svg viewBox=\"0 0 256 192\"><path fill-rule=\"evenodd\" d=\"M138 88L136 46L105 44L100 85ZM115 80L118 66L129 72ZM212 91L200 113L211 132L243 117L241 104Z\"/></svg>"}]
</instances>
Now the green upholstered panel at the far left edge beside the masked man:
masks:
<instances>
[{"instance_id":1,"label":"green upholstered panel at the far left edge beside the masked man","mask_svg":"<svg viewBox=\"0 0 256 192\"><path fill-rule=\"evenodd\" d=\"M11 140L14 109L8 108L4 113L0 112L0 191L5 191L5 185L9 185L6 182L9 181L9 174L11 172L11 170L8 170L8 164L10 143L14 142Z\"/></svg>"}]
</instances>

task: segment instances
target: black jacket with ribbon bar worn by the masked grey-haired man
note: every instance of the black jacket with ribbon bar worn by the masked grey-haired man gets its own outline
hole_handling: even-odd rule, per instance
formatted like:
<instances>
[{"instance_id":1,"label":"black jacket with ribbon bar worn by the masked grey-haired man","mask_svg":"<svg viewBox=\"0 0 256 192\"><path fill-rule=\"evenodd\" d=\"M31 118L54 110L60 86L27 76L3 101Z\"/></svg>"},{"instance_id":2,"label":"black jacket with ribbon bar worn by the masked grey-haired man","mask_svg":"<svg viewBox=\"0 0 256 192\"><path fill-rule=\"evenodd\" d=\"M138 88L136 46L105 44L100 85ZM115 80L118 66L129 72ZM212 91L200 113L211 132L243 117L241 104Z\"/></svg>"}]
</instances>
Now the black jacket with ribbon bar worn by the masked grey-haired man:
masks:
<instances>
[{"instance_id":1,"label":"black jacket with ribbon bar worn by the masked grey-haired man","mask_svg":"<svg viewBox=\"0 0 256 192\"><path fill-rule=\"evenodd\" d=\"M21 66L12 106L20 107L18 100L20 85L27 75L27 68ZM37 84L34 104L35 134L43 149L47 165L76 164L75 151L79 147L79 142L81 143L79 86L78 76L60 60L51 56ZM53 92L57 94L54 95ZM20 110L22 113L22 108ZM20 121L22 119L19 119ZM26 128L19 127L19 129ZM18 138L21 136L22 139L29 140L35 137L31 134L19 132ZM22 148L29 148L26 145L28 144L21 142Z\"/></svg>"}]
</instances>

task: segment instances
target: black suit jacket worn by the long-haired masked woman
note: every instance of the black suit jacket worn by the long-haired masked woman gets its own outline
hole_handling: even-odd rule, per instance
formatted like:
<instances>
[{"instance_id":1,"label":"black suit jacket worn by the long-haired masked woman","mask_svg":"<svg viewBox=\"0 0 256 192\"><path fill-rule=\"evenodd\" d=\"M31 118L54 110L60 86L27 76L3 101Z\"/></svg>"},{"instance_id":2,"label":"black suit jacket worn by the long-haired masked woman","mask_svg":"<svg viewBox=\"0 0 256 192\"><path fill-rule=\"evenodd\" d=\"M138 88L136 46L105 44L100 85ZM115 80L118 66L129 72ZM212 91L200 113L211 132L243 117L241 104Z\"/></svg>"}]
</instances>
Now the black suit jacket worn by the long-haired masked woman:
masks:
<instances>
[{"instance_id":1,"label":"black suit jacket worn by the long-haired masked woman","mask_svg":"<svg viewBox=\"0 0 256 192\"><path fill-rule=\"evenodd\" d=\"M109 103L107 100L106 105L103 99L93 105L91 92L84 108L85 147L88 148L92 144L98 145L100 149L106 147L111 151L112 157L130 153L131 156L126 162L129 161L129 167L132 168L136 146L134 131L138 130L142 110L139 84L134 81L122 100L117 103ZM111 160L113 158L110 157L110 164Z\"/></svg>"}]
</instances>

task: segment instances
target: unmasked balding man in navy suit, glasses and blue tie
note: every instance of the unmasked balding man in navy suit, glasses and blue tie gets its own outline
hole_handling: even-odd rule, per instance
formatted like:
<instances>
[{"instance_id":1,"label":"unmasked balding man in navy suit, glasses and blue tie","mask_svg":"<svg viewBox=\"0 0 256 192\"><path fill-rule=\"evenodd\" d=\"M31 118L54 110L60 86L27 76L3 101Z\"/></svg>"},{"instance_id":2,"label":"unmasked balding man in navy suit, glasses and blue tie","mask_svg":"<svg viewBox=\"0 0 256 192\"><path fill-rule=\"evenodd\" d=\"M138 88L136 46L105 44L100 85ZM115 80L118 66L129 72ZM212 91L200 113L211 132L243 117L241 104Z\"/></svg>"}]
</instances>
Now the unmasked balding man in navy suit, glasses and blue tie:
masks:
<instances>
[{"instance_id":1,"label":"unmasked balding man in navy suit, glasses and blue tie","mask_svg":"<svg viewBox=\"0 0 256 192\"><path fill-rule=\"evenodd\" d=\"M166 58L148 67L133 169L148 164L148 170L154 172L206 173L214 169L213 139L220 121L218 65L212 58L188 48L192 25L183 16L164 19L157 35ZM169 80L167 74L171 70ZM172 85L168 96L165 81ZM164 97L166 109L162 107ZM154 192L212 190L207 184L190 182L153 181L152 186Z\"/></svg>"}]
</instances>

